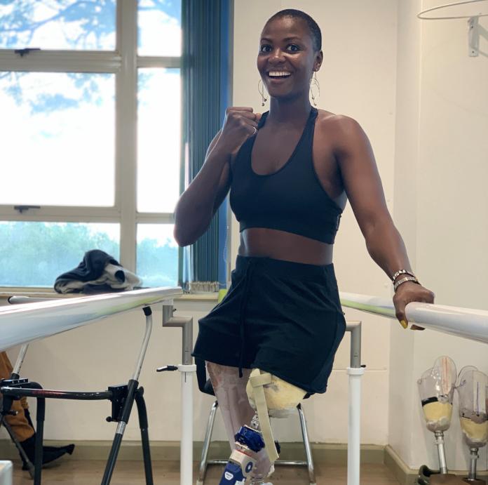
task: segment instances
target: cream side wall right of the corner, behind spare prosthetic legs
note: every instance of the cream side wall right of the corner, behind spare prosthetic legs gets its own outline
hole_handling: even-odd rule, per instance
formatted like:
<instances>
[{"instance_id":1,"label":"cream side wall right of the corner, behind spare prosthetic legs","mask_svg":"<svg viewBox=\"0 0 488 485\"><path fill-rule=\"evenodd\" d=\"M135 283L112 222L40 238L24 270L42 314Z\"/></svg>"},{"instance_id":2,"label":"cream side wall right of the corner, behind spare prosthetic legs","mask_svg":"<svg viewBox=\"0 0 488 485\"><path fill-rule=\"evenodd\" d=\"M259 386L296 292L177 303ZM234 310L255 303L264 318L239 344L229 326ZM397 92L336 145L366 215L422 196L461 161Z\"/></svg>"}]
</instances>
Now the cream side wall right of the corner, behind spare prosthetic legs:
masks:
<instances>
[{"instance_id":1,"label":"cream side wall right of the corner, behind spare prosthetic legs","mask_svg":"<svg viewBox=\"0 0 488 485\"><path fill-rule=\"evenodd\" d=\"M480 41L484 55L470 58L466 20L415 18L443 3L400 2L395 220L437 303L486 309L488 42ZM487 29L487 18L480 25ZM458 371L470 364L488 372L485 345L429 331L392 332L389 441L413 468L438 466L415 380L442 354L454 359ZM456 414L446 451L450 468L466 469ZM480 455L481 470L486 449Z\"/></svg>"}]
</instances>

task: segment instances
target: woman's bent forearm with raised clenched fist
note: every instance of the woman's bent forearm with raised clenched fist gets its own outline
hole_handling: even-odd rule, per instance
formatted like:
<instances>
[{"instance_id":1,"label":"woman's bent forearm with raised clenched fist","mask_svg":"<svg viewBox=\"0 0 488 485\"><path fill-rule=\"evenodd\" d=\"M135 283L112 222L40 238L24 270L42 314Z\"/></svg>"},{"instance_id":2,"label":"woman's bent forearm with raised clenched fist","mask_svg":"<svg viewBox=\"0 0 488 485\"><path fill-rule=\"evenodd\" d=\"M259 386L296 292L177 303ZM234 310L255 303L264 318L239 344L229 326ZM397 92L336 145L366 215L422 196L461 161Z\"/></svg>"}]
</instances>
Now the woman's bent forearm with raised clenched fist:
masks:
<instances>
[{"instance_id":1,"label":"woman's bent forearm with raised clenched fist","mask_svg":"<svg viewBox=\"0 0 488 485\"><path fill-rule=\"evenodd\" d=\"M227 109L224 126L210 143L201 170L175 207L175 239L179 246L193 244L207 230L229 192L231 157L256 133L259 117L252 108Z\"/></svg>"}]
</instances>

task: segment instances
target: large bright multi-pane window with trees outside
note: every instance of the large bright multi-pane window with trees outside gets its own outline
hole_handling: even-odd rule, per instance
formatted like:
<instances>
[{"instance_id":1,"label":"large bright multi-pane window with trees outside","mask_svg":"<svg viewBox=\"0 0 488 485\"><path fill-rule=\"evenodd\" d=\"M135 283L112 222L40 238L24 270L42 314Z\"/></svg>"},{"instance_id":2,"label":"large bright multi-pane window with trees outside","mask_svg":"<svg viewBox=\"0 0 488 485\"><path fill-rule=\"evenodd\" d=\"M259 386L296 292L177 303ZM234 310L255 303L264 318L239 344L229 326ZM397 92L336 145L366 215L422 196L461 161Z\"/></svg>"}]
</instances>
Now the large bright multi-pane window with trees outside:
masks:
<instances>
[{"instance_id":1,"label":"large bright multi-pane window with trees outside","mask_svg":"<svg viewBox=\"0 0 488 485\"><path fill-rule=\"evenodd\" d=\"M0 25L0 286L92 248L175 286L181 0L4 0Z\"/></svg>"}]
</instances>

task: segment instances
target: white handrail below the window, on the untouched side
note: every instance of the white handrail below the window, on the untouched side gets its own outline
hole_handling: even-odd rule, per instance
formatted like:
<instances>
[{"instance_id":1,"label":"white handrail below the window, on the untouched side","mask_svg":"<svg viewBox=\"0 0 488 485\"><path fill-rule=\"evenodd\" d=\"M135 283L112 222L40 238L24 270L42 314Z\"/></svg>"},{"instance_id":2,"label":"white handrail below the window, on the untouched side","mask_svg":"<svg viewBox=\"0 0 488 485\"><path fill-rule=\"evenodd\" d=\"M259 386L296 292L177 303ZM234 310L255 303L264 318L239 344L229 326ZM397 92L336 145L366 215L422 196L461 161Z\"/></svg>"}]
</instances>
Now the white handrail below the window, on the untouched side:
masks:
<instances>
[{"instance_id":1,"label":"white handrail below the window, on the untouched side","mask_svg":"<svg viewBox=\"0 0 488 485\"><path fill-rule=\"evenodd\" d=\"M182 295L181 288L149 288L0 307L0 351Z\"/></svg>"}]
</instances>

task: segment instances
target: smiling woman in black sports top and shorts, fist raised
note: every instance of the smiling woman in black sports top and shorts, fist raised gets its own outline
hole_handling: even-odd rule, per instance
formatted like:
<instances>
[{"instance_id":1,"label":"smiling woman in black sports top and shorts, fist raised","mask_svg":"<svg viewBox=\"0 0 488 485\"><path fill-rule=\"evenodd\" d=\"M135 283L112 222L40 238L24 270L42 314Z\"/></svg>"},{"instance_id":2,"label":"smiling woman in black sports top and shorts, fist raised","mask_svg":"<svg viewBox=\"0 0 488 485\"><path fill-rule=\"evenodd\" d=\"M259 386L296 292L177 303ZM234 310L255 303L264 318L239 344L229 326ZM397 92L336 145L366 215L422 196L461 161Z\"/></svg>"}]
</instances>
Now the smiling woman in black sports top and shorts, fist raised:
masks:
<instances>
[{"instance_id":1,"label":"smiling woman in black sports top and shorts, fist raised","mask_svg":"<svg viewBox=\"0 0 488 485\"><path fill-rule=\"evenodd\" d=\"M208 362L231 444L254 414L245 394L250 368L325 392L345 331L332 248L347 199L370 255L393 280L402 326L407 303L433 302L412 274L365 133L351 118L311 107L309 88L322 62L320 29L309 15L288 9L266 22L257 68L269 112L227 109L175 210L181 246L205 232L229 190L240 221L231 288L201 319L194 350ZM262 454L252 483L270 468Z\"/></svg>"}]
</instances>

